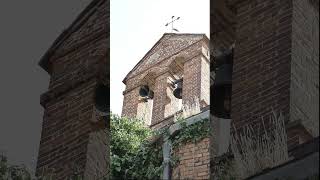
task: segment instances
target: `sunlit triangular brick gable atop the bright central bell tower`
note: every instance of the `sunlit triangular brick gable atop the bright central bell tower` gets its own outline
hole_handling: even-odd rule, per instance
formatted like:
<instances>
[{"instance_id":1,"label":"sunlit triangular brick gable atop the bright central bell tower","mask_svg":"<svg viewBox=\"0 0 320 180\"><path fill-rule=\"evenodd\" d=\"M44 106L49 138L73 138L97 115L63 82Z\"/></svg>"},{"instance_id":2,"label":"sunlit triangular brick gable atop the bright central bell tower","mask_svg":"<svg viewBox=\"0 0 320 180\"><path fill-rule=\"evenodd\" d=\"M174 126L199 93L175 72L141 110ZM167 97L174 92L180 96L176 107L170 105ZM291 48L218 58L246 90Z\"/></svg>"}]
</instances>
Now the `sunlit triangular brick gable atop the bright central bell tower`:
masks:
<instances>
[{"instance_id":1,"label":"sunlit triangular brick gable atop the bright central bell tower","mask_svg":"<svg viewBox=\"0 0 320 180\"><path fill-rule=\"evenodd\" d=\"M188 46L205 38L204 34L164 34L158 42L147 52L147 54L127 74L126 79L139 72L157 64L158 62L172 56L173 54L187 48Z\"/></svg>"}]
</instances>

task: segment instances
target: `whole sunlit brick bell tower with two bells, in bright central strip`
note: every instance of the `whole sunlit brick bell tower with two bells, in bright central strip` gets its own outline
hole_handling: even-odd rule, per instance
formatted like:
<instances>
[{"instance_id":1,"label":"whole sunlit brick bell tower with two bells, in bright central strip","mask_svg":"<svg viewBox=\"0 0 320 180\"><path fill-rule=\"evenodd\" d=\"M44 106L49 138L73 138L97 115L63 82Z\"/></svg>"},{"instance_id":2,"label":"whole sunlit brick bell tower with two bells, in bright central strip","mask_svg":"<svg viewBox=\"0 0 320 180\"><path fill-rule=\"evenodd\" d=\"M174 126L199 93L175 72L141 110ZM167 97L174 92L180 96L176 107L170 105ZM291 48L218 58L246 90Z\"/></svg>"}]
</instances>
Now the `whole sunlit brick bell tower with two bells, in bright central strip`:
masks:
<instances>
[{"instance_id":1,"label":"whole sunlit brick bell tower with two bells, in bright central strip","mask_svg":"<svg viewBox=\"0 0 320 180\"><path fill-rule=\"evenodd\" d=\"M208 106L208 43L204 34L164 34L123 80L122 116L144 119L158 129L172 123L170 117L183 104L198 100ZM174 95L177 86L182 87L181 97Z\"/></svg>"}]
</instances>

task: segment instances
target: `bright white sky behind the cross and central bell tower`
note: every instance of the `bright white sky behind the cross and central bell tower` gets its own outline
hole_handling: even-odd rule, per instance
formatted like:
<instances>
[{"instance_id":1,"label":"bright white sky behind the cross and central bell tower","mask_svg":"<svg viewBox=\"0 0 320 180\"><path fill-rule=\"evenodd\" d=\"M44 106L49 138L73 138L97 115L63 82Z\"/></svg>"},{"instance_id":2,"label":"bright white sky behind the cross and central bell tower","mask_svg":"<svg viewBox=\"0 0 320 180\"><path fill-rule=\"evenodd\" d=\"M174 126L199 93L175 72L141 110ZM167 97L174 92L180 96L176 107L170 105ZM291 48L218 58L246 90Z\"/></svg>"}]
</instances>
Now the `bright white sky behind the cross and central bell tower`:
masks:
<instances>
[{"instance_id":1,"label":"bright white sky behind the cross and central bell tower","mask_svg":"<svg viewBox=\"0 0 320 180\"><path fill-rule=\"evenodd\" d=\"M209 0L111 0L110 83L111 111L121 114L125 85L122 80L162 37L165 24L180 17L174 27L181 33L209 37Z\"/></svg>"}]
</instances>

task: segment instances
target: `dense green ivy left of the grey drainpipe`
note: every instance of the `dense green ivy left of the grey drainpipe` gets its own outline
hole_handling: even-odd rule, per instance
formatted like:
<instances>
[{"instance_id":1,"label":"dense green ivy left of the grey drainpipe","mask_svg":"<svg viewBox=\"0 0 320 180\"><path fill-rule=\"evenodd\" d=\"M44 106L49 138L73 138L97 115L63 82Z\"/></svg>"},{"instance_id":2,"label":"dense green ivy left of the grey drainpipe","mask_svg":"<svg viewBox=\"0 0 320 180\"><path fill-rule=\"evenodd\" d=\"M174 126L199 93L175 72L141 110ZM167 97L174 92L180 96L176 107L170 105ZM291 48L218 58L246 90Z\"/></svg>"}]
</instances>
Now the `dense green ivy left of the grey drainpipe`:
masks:
<instances>
[{"instance_id":1,"label":"dense green ivy left of the grey drainpipe","mask_svg":"<svg viewBox=\"0 0 320 180\"><path fill-rule=\"evenodd\" d=\"M161 145L148 141L156 133L141 120L116 115L111 116L110 128L111 179L159 179Z\"/></svg>"}]
</instances>

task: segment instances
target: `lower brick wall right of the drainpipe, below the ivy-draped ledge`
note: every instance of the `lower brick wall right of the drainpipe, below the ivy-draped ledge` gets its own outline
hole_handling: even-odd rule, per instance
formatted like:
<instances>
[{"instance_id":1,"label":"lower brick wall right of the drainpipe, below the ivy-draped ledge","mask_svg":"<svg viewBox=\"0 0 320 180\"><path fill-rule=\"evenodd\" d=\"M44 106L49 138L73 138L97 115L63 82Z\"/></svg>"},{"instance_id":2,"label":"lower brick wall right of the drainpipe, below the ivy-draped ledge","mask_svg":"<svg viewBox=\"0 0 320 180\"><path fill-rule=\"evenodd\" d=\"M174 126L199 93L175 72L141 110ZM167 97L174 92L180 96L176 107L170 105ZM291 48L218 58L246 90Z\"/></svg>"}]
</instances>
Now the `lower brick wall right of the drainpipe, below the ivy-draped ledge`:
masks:
<instances>
[{"instance_id":1,"label":"lower brick wall right of the drainpipe, below the ivy-draped ledge","mask_svg":"<svg viewBox=\"0 0 320 180\"><path fill-rule=\"evenodd\" d=\"M179 164L173 169L172 179L209 179L209 138L178 147L174 156L179 158Z\"/></svg>"}]
</instances>

